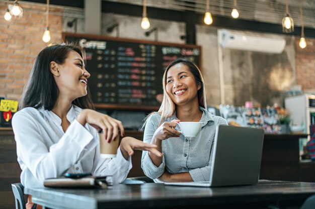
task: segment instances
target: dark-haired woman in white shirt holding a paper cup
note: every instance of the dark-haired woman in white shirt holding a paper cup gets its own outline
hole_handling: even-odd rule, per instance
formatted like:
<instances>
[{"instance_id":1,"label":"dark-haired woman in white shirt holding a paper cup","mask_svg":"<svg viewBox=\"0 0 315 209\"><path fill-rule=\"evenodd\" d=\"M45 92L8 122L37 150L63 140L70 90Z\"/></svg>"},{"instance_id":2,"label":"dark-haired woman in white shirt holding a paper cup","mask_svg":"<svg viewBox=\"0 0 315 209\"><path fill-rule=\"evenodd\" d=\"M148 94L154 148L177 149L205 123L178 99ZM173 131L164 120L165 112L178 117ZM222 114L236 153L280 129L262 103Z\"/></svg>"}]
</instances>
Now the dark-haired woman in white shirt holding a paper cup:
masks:
<instances>
[{"instance_id":1,"label":"dark-haired woman in white shirt holding a paper cup","mask_svg":"<svg viewBox=\"0 0 315 209\"><path fill-rule=\"evenodd\" d=\"M81 47L53 45L37 56L12 121L24 186L43 187L46 178L65 172L112 175L113 183L120 183L132 167L133 150L162 156L155 145L125 137L116 158L100 157L98 130L110 142L119 130L124 136L124 128L93 110L89 77Z\"/></svg>"}]
</instances>

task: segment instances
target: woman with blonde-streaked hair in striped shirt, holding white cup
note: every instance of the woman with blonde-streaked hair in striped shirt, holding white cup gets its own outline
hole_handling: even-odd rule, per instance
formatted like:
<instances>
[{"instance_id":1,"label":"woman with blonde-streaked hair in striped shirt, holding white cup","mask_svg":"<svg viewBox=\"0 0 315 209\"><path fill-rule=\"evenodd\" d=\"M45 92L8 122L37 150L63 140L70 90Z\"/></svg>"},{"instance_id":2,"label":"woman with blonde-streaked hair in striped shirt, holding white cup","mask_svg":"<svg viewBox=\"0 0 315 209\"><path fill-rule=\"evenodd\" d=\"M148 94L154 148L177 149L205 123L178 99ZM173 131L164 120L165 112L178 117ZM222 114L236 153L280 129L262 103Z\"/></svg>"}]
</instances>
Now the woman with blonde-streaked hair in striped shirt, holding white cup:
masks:
<instances>
[{"instance_id":1,"label":"woman with blonde-streaked hair in striped shirt, holding white cup","mask_svg":"<svg viewBox=\"0 0 315 209\"><path fill-rule=\"evenodd\" d=\"M177 59L163 76L160 110L148 116L143 142L157 145L163 157L143 151L141 167L155 182L209 181L216 126L226 121L206 110L204 81L191 61ZM197 137L185 137L176 122L202 122Z\"/></svg>"}]
</instances>

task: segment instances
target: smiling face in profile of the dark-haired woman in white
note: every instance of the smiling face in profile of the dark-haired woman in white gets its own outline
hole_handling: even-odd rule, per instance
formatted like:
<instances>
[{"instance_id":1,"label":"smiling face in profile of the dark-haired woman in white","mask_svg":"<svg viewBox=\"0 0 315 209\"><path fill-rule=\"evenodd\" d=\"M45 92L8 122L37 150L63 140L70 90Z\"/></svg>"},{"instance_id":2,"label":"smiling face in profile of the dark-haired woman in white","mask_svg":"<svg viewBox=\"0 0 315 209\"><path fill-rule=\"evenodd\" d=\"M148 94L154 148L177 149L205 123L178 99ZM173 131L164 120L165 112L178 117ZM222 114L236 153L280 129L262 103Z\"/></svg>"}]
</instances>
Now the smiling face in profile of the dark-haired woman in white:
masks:
<instances>
[{"instance_id":1,"label":"smiling face in profile of the dark-haired woman in white","mask_svg":"<svg viewBox=\"0 0 315 209\"><path fill-rule=\"evenodd\" d=\"M90 73L85 69L84 61L80 54L70 51L63 64L56 64L55 81L59 95L74 100L87 95L87 84ZM55 74L55 75L56 75Z\"/></svg>"}]
</instances>

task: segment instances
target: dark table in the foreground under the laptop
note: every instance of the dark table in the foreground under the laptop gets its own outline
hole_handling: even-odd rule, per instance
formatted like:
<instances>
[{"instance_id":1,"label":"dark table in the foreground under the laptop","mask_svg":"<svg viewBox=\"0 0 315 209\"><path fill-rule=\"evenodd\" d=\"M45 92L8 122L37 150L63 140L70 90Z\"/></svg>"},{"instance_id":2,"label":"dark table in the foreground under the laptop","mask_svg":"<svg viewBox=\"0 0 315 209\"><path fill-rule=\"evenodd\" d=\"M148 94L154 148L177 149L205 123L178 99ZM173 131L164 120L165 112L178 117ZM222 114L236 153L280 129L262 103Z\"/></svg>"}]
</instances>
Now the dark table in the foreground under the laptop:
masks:
<instances>
[{"instance_id":1,"label":"dark table in the foreground under the laptop","mask_svg":"<svg viewBox=\"0 0 315 209\"><path fill-rule=\"evenodd\" d=\"M108 189L25 188L32 201L50 208L299 208L315 194L315 183L260 180L230 187L144 183Z\"/></svg>"}]
</instances>

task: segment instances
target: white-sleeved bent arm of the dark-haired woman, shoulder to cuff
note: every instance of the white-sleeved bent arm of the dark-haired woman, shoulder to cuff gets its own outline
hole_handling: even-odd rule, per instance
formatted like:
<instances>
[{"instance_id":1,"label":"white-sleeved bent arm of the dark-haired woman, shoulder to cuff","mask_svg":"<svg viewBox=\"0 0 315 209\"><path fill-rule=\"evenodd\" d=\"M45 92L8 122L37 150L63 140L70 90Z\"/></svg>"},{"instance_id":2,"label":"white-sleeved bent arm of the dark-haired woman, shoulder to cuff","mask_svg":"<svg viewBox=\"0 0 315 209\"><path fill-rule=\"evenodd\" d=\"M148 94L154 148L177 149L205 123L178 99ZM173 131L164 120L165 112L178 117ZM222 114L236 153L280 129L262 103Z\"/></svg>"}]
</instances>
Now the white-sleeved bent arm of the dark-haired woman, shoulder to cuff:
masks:
<instances>
[{"instance_id":1,"label":"white-sleeved bent arm of the dark-haired woman, shoulder to cuff","mask_svg":"<svg viewBox=\"0 0 315 209\"><path fill-rule=\"evenodd\" d=\"M47 134L45 128L49 127L40 124L34 115L18 112L13 117L12 126L18 157L39 182L59 177L78 161L87 146L97 146L91 133L77 121L71 123L57 143L52 144L55 135Z\"/></svg>"}]
</instances>

